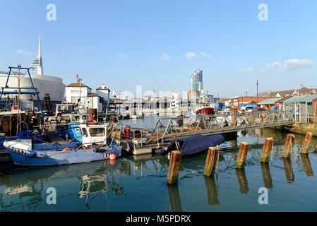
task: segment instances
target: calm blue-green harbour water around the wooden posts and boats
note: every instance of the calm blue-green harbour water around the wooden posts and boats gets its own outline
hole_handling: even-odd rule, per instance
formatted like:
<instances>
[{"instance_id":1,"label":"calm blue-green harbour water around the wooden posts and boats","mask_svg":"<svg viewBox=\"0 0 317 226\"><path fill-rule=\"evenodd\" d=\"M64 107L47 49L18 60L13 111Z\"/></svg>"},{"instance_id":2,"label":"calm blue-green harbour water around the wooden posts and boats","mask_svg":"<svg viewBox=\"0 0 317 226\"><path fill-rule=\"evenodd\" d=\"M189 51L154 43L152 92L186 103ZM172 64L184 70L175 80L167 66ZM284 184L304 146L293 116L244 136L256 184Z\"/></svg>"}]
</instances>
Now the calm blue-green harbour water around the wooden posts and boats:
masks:
<instances>
[{"instance_id":1,"label":"calm blue-green harbour water around the wooden posts and boats","mask_svg":"<svg viewBox=\"0 0 317 226\"><path fill-rule=\"evenodd\" d=\"M156 120L145 117L132 126L150 128ZM273 155L269 165L261 165L263 138L269 136L275 140ZM184 158L177 186L167 186L169 161L160 155L1 168L0 211L316 211L317 153L299 154L304 136L296 135L291 160L283 160L285 137L257 129L226 141L220 146L217 175L211 178L203 176L206 153ZM242 141L250 144L248 160L244 170L237 170ZM268 189L268 205L258 203L262 187ZM47 204L48 188L56 189L56 205Z\"/></svg>"}]
</instances>

